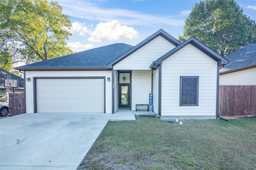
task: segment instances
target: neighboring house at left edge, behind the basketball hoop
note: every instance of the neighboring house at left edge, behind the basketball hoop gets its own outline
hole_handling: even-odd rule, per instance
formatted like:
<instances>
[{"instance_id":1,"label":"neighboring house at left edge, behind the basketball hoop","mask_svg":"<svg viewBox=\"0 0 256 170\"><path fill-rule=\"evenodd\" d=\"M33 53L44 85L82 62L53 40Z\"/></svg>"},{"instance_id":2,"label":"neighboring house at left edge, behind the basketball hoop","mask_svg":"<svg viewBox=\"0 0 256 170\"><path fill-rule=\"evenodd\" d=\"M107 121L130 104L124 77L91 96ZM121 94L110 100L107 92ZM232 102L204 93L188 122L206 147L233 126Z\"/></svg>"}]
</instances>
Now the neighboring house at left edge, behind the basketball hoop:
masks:
<instances>
[{"instance_id":1,"label":"neighboring house at left edge, behind the basketball hoop","mask_svg":"<svg viewBox=\"0 0 256 170\"><path fill-rule=\"evenodd\" d=\"M4 80L18 80L18 84L16 88L8 88L4 86ZM0 68L0 102L8 103L8 92L24 92L24 79L12 74L2 68Z\"/></svg>"}]
</instances>

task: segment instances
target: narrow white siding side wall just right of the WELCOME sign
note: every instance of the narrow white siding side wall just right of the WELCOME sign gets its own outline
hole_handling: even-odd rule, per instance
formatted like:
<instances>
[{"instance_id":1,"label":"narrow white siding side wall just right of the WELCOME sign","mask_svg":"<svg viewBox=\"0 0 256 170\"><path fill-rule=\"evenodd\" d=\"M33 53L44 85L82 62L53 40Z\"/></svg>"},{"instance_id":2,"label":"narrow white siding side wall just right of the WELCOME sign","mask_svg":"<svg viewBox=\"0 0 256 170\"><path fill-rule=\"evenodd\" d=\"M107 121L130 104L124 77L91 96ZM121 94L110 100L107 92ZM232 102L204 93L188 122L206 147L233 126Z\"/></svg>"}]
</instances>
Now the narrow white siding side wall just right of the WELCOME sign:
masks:
<instances>
[{"instance_id":1,"label":"narrow white siding side wall just right of the WELCOME sign","mask_svg":"<svg viewBox=\"0 0 256 170\"><path fill-rule=\"evenodd\" d=\"M153 71L153 111L158 114L158 77L159 70Z\"/></svg>"}]
</instances>

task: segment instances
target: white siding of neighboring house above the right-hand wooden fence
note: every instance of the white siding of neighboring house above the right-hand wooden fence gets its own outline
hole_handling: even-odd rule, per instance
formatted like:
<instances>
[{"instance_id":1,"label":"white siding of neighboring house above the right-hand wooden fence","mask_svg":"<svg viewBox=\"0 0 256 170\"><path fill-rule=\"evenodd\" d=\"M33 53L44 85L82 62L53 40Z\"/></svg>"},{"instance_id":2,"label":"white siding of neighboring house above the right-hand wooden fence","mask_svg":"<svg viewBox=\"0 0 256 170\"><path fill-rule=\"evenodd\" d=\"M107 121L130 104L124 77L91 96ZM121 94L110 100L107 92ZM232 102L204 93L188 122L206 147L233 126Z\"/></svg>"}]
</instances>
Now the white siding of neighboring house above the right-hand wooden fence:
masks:
<instances>
[{"instance_id":1,"label":"white siding of neighboring house above the right-hand wooden fence","mask_svg":"<svg viewBox=\"0 0 256 170\"><path fill-rule=\"evenodd\" d=\"M256 85L256 68L222 74L220 85Z\"/></svg>"}]
</instances>

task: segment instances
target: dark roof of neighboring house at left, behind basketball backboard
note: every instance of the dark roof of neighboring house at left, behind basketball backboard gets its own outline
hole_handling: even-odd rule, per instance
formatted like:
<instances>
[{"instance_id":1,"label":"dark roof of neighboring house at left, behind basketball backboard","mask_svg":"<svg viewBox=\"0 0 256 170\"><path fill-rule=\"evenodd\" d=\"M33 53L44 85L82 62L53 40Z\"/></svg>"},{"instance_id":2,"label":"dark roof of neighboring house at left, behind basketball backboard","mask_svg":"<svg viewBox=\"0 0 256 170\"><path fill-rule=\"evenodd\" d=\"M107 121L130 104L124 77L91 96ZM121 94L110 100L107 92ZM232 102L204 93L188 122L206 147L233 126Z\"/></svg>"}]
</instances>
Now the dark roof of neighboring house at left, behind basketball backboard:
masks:
<instances>
[{"instance_id":1,"label":"dark roof of neighboring house at left, behind basketball backboard","mask_svg":"<svg viewBox=\"0 0 256 170\"><path fill-rule=\"evenodd\" d=\"M24 88L24 79L0 68L0 86L4 87L4 79L18 79L18 88Z\"/></svg>"}]
</instances>

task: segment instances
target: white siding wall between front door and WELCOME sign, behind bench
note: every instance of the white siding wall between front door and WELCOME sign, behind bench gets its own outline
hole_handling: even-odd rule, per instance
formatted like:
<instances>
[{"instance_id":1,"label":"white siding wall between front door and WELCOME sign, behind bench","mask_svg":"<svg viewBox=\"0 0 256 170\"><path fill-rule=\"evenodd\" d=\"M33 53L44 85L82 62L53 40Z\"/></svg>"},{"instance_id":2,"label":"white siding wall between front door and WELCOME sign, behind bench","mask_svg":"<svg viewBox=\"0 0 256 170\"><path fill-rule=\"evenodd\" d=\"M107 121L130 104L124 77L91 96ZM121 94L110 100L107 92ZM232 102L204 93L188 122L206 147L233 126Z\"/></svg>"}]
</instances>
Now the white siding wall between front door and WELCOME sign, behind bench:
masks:
<instances>
[{"instance_id":1,"label":"white siding wall between front door and WELCOME sign, behind bench","mask_svg":"<svg viewBox=\"0 0 256 170\"><path fill-rule=\"evenodd\" d=\"M151 93L151 70L132 70L132 110L136 104L148 104Z\"/></svg>"}]
</instances>

